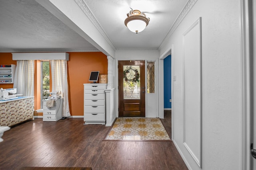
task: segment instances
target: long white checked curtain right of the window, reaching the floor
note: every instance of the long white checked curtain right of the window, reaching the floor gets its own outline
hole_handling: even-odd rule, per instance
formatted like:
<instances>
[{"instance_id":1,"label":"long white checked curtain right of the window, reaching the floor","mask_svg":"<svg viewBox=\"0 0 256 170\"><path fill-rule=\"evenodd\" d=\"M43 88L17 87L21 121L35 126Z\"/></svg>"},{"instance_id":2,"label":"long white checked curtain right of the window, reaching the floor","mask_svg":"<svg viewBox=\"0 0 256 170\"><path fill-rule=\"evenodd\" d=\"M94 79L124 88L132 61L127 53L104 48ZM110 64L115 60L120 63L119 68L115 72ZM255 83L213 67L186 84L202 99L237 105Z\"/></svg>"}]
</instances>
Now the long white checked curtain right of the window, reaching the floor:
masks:
<instances>
[{"instance_id":1,"label":"long white checked curtain right of the window, reaching the floor","mask_svg":"<svg viewBox=\"0 0 256 170\"><path fill-rule=\"evenodd\" d=\"M66 60L50 60L52 69L52 92L61 92L62 117L70 116L68 104L68 67Z\"/></svg>"}]
</instances>

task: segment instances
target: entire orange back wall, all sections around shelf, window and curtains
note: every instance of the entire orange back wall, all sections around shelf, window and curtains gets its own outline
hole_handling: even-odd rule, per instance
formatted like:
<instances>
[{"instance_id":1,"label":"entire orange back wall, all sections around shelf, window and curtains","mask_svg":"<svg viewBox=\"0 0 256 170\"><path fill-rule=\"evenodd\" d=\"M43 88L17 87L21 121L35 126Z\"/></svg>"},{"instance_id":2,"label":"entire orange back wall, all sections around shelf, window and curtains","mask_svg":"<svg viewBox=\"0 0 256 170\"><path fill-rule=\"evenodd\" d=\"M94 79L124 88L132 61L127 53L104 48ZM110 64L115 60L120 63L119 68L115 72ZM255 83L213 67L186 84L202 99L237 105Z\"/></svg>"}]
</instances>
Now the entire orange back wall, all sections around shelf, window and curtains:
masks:
<instances>
[{"instance_id":1,"label":"entire orange back wall, all sections around shelf, window and curtains","mask_svg":"<svg viewBox=\"0 0 256 170\"><path fill-rule=\"evenodd\" d=\"M17 64L12 60L12 53L0 53L0 64ZM40 109L40 90L37 88L40 83L38 66L35 62L35 109ZM69 88L69 109L71 115L84 115L84 83L90 83L91 71L100 71L100 74L108 74L108 59L101 52L70 52L68 61L68 88ZM0 84L0 88L13 88L13 84ZM36 94L37 93L37 94Z\"/></svg>"}]
</instances>

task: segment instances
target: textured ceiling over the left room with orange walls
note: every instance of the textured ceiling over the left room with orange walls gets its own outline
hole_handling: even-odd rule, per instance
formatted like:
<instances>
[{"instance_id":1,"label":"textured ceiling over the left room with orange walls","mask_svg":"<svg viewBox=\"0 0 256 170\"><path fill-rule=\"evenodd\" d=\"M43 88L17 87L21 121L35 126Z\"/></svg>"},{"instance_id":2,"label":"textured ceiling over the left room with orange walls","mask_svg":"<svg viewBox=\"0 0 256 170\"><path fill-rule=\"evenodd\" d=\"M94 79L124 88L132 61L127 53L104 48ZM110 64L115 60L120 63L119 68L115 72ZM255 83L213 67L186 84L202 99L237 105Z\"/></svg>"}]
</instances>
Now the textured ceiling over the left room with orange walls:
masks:
<instances>
[{"instance_id":1,"label":"textured ceiling over the left room with orange walls","mask_svg":"<svg viewBox=\"0 0 256 170\"><path fill-rule=\"evenodd\" d=\"M34 0L0 0L0 4L2 51L96 49Z\"/></svg>"}]
</instances>

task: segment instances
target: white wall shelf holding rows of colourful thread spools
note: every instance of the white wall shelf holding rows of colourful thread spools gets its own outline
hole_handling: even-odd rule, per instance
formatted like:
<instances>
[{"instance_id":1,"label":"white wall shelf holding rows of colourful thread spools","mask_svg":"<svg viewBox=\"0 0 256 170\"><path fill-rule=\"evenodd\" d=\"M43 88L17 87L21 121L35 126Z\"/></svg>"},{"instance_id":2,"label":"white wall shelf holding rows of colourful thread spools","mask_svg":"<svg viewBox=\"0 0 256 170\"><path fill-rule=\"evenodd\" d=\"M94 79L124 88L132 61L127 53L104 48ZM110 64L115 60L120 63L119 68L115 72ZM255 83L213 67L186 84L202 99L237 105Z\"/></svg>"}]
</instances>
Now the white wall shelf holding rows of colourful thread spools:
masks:
<instances>
[{"instance_id":1,"label":"white wall shelf holding rows of colourful thread spools","mask_svg":"<svg viewBox=\"0 0 256 170\"><path fill-rule=\"evenodd\" d=\"M0 84L13 83L15 64L0 65Z\"/></svg>"}]
</instances>

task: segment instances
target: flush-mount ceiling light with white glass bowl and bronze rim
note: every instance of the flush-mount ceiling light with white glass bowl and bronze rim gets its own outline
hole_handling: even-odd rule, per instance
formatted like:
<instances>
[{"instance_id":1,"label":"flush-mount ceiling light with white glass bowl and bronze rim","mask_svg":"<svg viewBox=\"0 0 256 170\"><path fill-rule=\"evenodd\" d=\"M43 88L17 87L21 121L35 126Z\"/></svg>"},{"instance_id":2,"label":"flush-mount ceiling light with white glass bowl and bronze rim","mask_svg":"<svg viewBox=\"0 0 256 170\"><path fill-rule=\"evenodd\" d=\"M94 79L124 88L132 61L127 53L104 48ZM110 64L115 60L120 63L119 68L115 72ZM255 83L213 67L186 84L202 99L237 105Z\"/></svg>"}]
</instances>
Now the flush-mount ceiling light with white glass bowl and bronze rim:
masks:
<instances>
[{"instance_id":1,"label":"flush-mount ceiling light with white glass bowl and bronze rim","mask_svg":"<svg viewBox=\"0 0 256 170\"><path fill-rule=\"evenodd\" d=\"M141 13L139 10L130 10L124 20L124 24L130 31L139 33L146 28L149 21L150 18L146 18L146 14Z\"/></svg>"}]
</instances>

